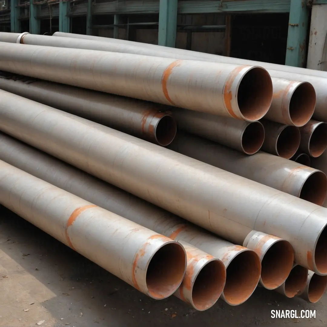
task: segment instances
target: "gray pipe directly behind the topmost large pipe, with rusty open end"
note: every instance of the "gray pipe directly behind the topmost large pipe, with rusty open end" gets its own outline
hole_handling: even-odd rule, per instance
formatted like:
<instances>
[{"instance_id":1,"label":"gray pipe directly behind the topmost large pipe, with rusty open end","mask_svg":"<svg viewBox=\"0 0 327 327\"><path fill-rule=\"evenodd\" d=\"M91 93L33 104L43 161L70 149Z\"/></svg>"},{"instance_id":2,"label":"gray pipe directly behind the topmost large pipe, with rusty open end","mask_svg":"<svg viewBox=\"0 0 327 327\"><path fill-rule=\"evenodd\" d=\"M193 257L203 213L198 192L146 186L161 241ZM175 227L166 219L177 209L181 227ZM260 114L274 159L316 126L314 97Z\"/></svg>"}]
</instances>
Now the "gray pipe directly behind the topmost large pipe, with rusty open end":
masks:
<instances>
[{"instance_id":1,"label":"gray pipe directly behind the topmost large pipe, with rusty open end","mask_svg":"<svg viewBox=\"0 0 327 327\"><path fill-rule=\"evenodd\" d=\"M153 54L154 57L171 58L172 53L166 53L157 50L149 50L144 47L136 47L135 45L121 45L117 43L90 41L74 38L63 38L46 35L33 35L27 34L19 37L17 43L43 45L43 46L56 46L56 47L68 47L77 49L92 49L100 51L110 52L123 52L133 53L139 55ZM166 48L165 48L166 49ZM161 55L162 54L162 55ZM173 57L175 58L175 56ZM214 62L218 62L217 57L213 57ZM222 57L225 58L225 57ZM183 59L183 58L178 58ZM191 60L204 60L201 56L198 58L192 56L185 59ZM224 62L224 61L222 61ZM240 62L239 64L242 64ZM266 118L280 122L282 124L303 126L311 118L315 105L316 105L316 93L314 87L308 82L300 82L296 80L289 80L286 78L272 78L273 83L273 99L269 111L266 114Z\"/></svg>"}]
</instances>

